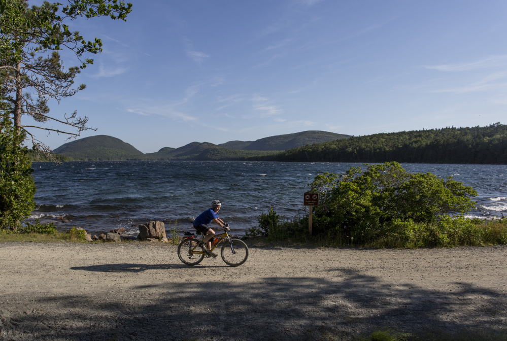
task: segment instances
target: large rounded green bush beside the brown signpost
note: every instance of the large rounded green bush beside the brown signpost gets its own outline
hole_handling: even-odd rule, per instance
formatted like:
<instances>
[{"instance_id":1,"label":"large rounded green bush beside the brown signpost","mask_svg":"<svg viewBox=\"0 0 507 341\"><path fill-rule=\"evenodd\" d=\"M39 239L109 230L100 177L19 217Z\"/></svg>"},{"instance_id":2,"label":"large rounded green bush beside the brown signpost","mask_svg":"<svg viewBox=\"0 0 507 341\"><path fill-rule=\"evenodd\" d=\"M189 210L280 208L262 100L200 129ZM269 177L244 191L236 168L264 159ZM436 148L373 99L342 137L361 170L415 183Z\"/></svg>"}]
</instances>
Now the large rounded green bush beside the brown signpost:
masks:
<instances>
[{"instance_id":1,"label":"large rounded green bush beside the brown signpost","mask_svg":"<svg viewBox=\"0 0 507 341\"><path fill-rule=\"evenodd\" d=\"M447 227L438 221L469 212L474 207L471 198L477 195L452 177L444 180L431 173L411 174L397 162L368 165L364 172L351 167L345 174L324 173L310 186L312 192L320 194L319 206L314 208L314 234L342 235L342 239L348 236L357 244L379 237L394 244L406 241L408 235L399 221L436 223L424 231L418 225L412 228L423 244L448 244ZM468 238L473 239L475 232L470 233Z\"/></svg>"}]
</instances>

